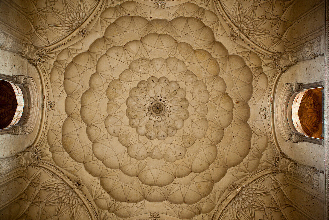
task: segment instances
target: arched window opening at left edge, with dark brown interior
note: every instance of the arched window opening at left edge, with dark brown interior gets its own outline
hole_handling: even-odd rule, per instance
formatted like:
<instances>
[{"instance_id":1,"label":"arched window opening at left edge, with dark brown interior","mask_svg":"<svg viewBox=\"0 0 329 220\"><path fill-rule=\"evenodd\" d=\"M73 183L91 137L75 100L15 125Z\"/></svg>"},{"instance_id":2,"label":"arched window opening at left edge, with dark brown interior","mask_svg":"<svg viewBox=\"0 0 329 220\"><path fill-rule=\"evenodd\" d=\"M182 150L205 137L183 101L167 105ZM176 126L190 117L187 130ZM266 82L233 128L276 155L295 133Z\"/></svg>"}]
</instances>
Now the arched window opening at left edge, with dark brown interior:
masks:
<instances>
[{"instance_id":1,"label":"arched window opening at left edge, with dark brown interior","mask_svg":"<svg viewBox=\"0 0 329 220\"><path fill-rule=\"evenodd\" d=\"M0 129L17 124L23 114L22 90L8 81L0 80Z\"/></svg>"}]
</instances>

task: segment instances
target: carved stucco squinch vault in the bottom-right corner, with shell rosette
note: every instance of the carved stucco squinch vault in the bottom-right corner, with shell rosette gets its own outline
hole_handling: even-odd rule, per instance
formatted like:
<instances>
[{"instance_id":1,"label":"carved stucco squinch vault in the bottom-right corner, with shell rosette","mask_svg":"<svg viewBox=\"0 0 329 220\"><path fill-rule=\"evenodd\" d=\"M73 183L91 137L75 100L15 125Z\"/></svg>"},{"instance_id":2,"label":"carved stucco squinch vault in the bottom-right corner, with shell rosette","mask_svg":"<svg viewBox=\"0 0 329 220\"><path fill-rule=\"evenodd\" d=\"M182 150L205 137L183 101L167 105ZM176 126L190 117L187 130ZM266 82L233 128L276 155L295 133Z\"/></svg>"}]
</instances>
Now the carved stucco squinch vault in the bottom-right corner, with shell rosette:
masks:
<instances>
[{"instance_id":1,"label":"carved stucco squinch vault in the bottom-right corner, with shell rosette","mask_svg":"<svg viewBox=\"0 0 329 220\"><path fill-rule=\"evenodd\" d=\"M322 219L323 201L313 193L284 174L268 174L246 185L219 219Z\"/></svg>"}]
</instances>

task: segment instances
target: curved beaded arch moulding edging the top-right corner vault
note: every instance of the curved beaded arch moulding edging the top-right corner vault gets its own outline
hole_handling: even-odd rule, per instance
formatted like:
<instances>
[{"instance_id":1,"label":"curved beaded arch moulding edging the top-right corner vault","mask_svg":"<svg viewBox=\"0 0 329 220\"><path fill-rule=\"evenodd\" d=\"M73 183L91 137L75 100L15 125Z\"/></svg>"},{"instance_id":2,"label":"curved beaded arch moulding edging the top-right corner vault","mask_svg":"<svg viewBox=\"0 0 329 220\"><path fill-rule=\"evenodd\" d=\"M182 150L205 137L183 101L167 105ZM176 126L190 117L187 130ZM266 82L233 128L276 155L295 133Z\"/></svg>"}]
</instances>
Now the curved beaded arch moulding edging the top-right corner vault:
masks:
<instances>
[{"instance_id":1,"label":"curved beaded arch moulding edging the top-right corner vault","mask_svg":"<svg viewBox=\"0 0 329 220\"><path fill-rule=\"evenodd\" d=\"M227 24L227 26L234 32L237 33L238 37L250 48L255 50L257 53L266 56L266 57L273 57L274 52L266 50L265 48L260 47L259 45L252 42L248 37L246 37L238 28L237 26L231 21L231 19L227 16L225 10L223 9L219 0L214 0L215 8L217 9L218 14Z\"/></svg>"}]
</instances>

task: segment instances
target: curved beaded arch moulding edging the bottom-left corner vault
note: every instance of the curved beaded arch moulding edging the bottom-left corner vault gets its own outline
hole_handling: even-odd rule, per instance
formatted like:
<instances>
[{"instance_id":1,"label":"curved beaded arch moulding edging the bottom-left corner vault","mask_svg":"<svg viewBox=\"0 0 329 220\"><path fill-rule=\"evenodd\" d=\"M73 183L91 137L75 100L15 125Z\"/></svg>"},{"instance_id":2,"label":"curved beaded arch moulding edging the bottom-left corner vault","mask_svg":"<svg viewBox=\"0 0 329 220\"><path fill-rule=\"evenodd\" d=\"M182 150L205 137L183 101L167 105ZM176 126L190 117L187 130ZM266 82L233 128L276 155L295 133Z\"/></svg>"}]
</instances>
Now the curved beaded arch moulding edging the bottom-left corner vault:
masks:
<instances>
[{"instance_id":1,"label":"curved beaded arch moulding edging the bottom-left corner vault","mask_svg":"<svg viewBox=\"0 0 329 220\"><path fill-rule=\"evenodd\" d=\"M82 189L77 188L74 185L73 180L66 173L64 173L57 166L55 166L55 165L53 165L53 164L51 164L49 162L43 161L43 160L40 161L40 163L39 163L38 166L39 167L43 167L43 168L51 171L52 173L56 174L59 178L63 179L79 195L79 197L81 198L81 200L83 201L83 203L88 208L88 211L89 211L90 215L94 217L93 219L99 220L98 212L95 209L94 205L89 200L89 198L87 197L87 195L83 192Z\"/></svg>"}]
</instances>

